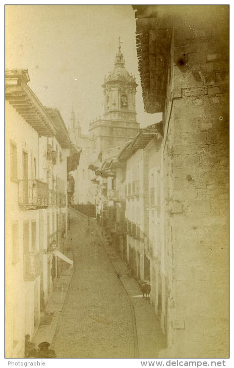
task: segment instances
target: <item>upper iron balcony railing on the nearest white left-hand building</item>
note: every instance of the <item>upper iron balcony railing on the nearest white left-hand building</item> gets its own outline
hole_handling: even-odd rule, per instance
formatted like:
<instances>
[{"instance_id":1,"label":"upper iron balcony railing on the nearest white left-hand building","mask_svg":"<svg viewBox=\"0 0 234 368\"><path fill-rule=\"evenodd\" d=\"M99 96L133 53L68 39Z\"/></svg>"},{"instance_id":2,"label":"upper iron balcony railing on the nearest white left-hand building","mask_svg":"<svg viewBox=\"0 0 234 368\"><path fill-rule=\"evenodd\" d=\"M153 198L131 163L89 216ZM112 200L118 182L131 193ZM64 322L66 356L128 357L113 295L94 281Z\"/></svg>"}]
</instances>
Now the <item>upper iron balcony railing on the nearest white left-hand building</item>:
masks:
<instances>
[{"instance_id":1,"label":"upper iron balcony railing on the nearest white left-hand building","mask_svg":"<svg viewBox=\"0 0 234 368\"><path fill-rule=\"evenodd\" d=\"M49 205L48 184L37 180L19 180L19 206L36 209Z\"/></svg>"}]
</instances>

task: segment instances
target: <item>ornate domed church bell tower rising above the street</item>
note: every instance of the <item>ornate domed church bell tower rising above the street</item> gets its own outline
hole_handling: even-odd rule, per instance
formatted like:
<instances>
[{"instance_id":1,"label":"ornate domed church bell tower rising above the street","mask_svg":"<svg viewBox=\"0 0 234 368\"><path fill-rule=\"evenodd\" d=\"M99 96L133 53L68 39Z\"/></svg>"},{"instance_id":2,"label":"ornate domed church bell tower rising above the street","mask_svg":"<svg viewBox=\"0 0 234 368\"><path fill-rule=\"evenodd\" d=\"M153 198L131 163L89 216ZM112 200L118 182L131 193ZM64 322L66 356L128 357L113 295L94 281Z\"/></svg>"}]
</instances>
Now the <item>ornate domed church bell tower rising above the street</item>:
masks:
<instances>
[{"instance_id":1,"label":"ornate domed church bell tower rising above the street","mask_svg":"<svg viewBox=\"0 0 234 368\"><path fill-rule=\"evenodd\" d=\"M120 38L114 68L104 78L102 88L104 113L89 124L89 139L92 151L97 156L135 137L140 128L136 120L137 83L135 77L125 69Z\"/></svg>"}]
</instances>

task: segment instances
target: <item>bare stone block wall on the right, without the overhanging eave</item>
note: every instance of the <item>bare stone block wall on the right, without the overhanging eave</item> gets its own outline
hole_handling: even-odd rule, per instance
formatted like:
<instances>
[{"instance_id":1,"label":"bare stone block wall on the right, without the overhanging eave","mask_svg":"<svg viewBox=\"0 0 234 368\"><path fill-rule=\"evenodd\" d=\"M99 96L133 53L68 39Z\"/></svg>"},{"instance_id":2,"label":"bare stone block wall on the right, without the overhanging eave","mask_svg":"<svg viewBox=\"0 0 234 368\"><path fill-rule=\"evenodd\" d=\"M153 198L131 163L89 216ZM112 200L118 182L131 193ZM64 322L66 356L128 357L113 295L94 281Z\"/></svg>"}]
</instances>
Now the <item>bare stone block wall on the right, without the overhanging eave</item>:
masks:
<instances>
[{"instance_id":1,"label":"bare stone block wall on the right, without the overhanging eave","mask_svg":"<svg viewBox=\"0 0 234 368\"><path fill-rule=\"evenodd\" d=\"M174 27L172 102L164 113L170 115L164 121L163 168L165 271L173 301L168 343L177 357L224 357L228 354L227 63L221 52L222 34L216 30L211 35L204 24L200 29L196 25L190 35L185 26L183 35L181 25Z\"/></svg>"}]
</instances>

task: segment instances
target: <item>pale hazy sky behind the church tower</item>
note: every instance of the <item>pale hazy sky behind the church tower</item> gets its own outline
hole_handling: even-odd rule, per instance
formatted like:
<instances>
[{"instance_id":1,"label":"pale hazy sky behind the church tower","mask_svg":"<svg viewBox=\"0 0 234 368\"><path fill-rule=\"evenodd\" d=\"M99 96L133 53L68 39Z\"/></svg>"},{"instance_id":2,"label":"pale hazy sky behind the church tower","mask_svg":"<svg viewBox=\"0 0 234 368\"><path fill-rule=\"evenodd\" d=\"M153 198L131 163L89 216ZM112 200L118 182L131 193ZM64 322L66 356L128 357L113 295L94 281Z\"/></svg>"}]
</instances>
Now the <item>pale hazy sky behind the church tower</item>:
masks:
<instances>
[{"instance_id":1,"label":"pale hazy sky behind the church tower","mask_svg":"<svg viewBox=\"0 0 234 368\"><path fill-rule=\"evenodd\" d=\"M131 6L7 6L6 25L6 68L28 69L30 88L66 124L72 105L83 134L103 112L101 85L114 67L119 36L125 67L139 84L138 122L145 127L161 119L144 112Z\"/></svg>"}]
</instances>

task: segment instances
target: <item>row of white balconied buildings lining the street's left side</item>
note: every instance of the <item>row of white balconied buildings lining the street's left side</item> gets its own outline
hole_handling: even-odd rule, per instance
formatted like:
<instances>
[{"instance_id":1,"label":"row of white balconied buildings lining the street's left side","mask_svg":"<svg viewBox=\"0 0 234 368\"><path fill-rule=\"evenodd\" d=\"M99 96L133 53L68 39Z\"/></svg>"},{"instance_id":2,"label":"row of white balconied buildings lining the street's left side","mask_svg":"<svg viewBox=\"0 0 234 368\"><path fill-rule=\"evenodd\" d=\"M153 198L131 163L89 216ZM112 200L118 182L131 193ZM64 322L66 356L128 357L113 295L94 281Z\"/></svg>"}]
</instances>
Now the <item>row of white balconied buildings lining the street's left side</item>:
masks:
<instances>
[{"instance_id":1,"label":"row of white balconied buildings lining the street's left side","mask_svg":"<svg viewBox=\"0 0 234 368\"><path fill-rule=\"evenodd\" d=\"M6 72L6 356L24 357L62 269L71 142L59 112ZM63 262L61 263L61 265Z\"/></svg>"}]
</instances>

